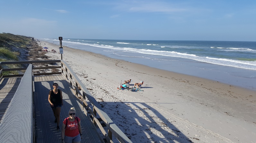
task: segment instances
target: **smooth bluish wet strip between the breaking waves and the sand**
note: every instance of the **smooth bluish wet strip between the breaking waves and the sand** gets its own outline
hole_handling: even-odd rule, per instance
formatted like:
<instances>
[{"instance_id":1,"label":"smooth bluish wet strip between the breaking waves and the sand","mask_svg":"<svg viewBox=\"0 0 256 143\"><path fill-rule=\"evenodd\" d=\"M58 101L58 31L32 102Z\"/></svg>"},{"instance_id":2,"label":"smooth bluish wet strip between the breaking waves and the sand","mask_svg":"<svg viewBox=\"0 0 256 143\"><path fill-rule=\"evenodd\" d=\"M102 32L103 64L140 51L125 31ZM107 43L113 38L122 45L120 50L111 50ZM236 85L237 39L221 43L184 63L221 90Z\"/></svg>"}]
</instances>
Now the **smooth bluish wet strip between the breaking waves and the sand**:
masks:
<instances>
[{"instance_id":1,"label":"smooth bluish wet strip between the breaking waves and the sand","mask_svg":"<svg viewBox=\"0 0 256 143\"><path fill-rule=\"evenodd\" d=\"M55 42L54 44L58 44ZM123 52L112 51L112 49L102 49L100 47L94 47L90 45L70 45L71 48L90 51L104 56L108 56L114 59L121 59L132 63L143 64L150 67L167 70L171 72L181 73L185 75L191 75L204 79L210 79L225 84L230 84L236 87L242 87L249 90L256 91L255 84L255 72L254 70L237 68L233 66L223 66L218 64L210 64L200 62L192 59L172 57L166 60L160 60L157 57L145 58L144 56L136 53L125 54Z\"/></svg>"}]
</instances>

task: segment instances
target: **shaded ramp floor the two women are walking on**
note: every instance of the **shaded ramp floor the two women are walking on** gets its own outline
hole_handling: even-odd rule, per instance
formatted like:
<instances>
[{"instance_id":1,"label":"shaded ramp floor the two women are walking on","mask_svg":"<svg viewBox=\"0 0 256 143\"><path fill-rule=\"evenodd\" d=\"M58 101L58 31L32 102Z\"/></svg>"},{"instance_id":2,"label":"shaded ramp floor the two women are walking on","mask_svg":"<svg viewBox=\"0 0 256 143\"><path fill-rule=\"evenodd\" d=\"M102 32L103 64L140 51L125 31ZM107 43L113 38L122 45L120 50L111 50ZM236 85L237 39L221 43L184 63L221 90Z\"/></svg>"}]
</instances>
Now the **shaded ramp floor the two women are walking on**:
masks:
<instances>
[{"instance_id":1,"label":"shaded ramp floor the two women are walking on","mask_svg":"<svg viewBox=\"0 0 256 143\"><path fill-rule=\"evenodd\" d=\"M49 90L53 89L53 83L59 85L62 90L64 105L60 113L60 129L63 120L68 117L68 111L75 107L76 116L81 119L83 139L81 143L100 143L89 119L85 116L83 109L72 92L70 84L62 75L35 76L35 126L37 143L61 143L61 130L57 130L57 123L54 123L55 117L48 102Z\"/></svg>"}]
</instances>

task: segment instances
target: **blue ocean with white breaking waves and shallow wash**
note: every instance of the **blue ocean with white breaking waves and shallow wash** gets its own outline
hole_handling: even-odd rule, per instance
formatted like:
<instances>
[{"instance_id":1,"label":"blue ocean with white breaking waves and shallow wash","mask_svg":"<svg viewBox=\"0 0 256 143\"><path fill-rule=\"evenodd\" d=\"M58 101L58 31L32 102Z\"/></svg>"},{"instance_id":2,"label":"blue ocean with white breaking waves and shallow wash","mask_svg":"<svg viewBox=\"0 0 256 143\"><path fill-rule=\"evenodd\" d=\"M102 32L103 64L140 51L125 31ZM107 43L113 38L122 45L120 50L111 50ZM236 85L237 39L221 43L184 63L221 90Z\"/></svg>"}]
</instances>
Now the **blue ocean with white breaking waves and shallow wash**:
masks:
<instances>
[{"instance_id":1,"label":"blue ocean with white breaking waves and shallow wash","mask_svg":"<svg viewBox=\"0 0 256 143\"><path fill-rule=\"evenodd\" d=\"M59 45L57 38L40 38L39 40ZM64 38L62 46L256 90L255 41ZM65 49L63 50L63 56L65 56Z\"/></svg>"}]
</instances>

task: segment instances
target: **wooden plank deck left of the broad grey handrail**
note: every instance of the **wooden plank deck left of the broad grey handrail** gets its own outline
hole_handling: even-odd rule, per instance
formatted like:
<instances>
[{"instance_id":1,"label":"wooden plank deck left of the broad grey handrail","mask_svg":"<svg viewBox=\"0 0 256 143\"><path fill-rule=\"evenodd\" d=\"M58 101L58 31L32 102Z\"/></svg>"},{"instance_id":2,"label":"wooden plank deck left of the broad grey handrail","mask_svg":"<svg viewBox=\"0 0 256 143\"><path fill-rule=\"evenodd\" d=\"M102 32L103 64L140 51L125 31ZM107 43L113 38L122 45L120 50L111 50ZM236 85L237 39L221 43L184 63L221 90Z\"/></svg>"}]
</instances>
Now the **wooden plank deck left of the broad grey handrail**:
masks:
<instances>
[{"instance_id":1,"label":"wooden plank deck left of the broad grey handrail","mask_svg":"<svg viewBox=\"0 0 256 143\"><path fill-rule=\"evenodd\" d=\"M0 123L13 99L21 77L4 78L0 81Z\"/></svg>"}]
</instances>

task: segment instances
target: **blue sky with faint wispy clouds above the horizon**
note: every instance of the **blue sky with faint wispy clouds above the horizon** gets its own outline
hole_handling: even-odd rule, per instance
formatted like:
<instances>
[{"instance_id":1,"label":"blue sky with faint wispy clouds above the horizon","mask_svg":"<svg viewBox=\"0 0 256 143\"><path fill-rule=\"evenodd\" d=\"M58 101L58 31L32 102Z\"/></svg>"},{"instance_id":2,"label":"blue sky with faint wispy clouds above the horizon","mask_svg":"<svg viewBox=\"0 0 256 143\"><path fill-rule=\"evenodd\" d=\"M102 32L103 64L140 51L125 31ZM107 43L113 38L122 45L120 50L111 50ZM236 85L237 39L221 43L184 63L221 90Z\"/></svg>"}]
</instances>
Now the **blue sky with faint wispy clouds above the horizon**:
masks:
<instances>
[{"instance_id":1,"label":"blue sky with faint wispy clouds above the horizon","mask_svg":"<svg viewBox=\"0 0 256 143\"><path fill-rule=\"evenodd\" d=\"M255 0L0 0L0 33L36 38L256 41Z\"/></svg>"}]
</instances>

